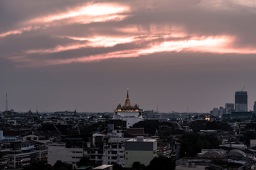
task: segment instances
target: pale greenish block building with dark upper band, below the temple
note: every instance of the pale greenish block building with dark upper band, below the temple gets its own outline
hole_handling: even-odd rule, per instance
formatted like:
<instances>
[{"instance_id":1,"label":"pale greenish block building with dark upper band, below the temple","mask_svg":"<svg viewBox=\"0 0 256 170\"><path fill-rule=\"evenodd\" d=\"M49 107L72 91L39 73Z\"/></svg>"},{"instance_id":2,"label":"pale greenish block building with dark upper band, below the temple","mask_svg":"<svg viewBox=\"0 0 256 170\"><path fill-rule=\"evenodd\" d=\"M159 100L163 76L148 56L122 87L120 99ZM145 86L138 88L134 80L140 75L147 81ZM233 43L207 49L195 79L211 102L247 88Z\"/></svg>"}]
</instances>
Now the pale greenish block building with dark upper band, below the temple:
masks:
<instances>
[{"instance_id":1,"label":"pale greenish block building with dark upper band, below the temple","mask_svg":"<svg viewBox=\"0 0 256 170\"><path fill-rule=\"evenodd\" d=\"M157 140L136 137L125 141L125 167L130 168L134 162L148 166L157 156Z\"/></svg>"}]
</instances>

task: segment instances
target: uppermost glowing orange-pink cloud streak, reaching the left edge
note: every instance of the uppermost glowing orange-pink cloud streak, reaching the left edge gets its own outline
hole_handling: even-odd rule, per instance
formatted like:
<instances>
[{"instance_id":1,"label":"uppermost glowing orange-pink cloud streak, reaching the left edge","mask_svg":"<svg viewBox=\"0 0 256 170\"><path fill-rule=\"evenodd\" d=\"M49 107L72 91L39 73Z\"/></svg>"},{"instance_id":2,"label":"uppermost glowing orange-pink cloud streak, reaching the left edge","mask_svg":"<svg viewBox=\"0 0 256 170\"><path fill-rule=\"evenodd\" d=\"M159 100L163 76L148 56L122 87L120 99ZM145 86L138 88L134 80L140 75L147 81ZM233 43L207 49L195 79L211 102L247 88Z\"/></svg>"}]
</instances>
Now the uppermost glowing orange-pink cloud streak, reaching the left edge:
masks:
<instances>
[{"instance_id":1,"label":"uppermost glowing orange-pink cloud streak, reaching the left edge","mask_svg":"<svg viewBox=\"0 0 256 170\"><path fill-rule=\"evenodd\" d=\"M25 21L21 24L25 25L25 27L1 33L0 38L6 37L7 35L21 34L26 31L45 29L50 26L60 25L60 23L53 24L54 21L65 20L62 24L122 21L124 18L128 17L128 15L124 13L128 13L129 11L129 6L122 6L119 4L87 4L85 6L70 8L69 11L65 11L63 13L52 14L45 17L33 18L30 21ZM42 24L43 26L41 26Z\"/></svg>"}]
</instances>

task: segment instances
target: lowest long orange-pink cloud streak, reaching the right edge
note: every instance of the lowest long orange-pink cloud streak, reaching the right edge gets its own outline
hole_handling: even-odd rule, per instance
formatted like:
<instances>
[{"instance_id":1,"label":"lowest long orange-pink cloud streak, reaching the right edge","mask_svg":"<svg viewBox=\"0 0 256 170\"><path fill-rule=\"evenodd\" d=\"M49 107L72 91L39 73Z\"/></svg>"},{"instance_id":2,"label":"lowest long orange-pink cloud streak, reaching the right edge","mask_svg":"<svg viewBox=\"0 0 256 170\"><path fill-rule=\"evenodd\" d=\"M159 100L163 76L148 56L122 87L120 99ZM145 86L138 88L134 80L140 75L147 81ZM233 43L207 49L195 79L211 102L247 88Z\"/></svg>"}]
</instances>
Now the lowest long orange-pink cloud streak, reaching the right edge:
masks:
<instances>
[{"instance_id":1,"label":"lowest long orange-pink cloud streak, reaching the right edge","mask_svg":"<svg viewBox=\"0 0 256 170\"><path fill-rule=\"evenodd\" d=\"M167 35L164 35L164 36L166 37ZM134 40L137 40L137 39L134 38ZM184 52L256 54L256 50L251 48L238 49L238 48L232 47L231 45L233 44L234 40L235 38L230 37L228 35L193 37L193 38L189 38L188 40L164 41L159 43L153 43L149 45L149 47L145 47L142 49L107 52L101 55L90 55L85 57L76 57L76 58L58 59L58 60L55 60L55 59L43 60L43 62L40 62L40 63L37 63L36 61L33 61L33 60L28 62L28 60L25 59L26 57L22 57L18 61L19 62L26 61L29 63L28 64L29 66L47 66L47 65L55 65L55 64L69 64L73 62L95 62L95 61L107 60L111 58L139 57L141 55L149 55L157 52L184 51ZM71 46L70 49L72 47L73 46ZM61 50L61 48L59 50Z\"/></svg>"}]
</instances>

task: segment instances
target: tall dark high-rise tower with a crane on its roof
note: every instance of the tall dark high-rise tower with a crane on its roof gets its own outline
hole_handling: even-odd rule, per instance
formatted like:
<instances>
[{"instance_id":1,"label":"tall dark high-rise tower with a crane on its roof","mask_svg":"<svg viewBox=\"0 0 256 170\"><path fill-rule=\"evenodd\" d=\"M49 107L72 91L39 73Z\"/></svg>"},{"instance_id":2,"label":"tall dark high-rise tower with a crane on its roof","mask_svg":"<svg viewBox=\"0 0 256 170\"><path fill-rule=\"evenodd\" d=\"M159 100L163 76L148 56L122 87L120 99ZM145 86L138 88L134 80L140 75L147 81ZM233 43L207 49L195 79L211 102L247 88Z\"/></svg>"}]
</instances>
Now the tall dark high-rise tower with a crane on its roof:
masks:
<instances>
[{"instance_id":1,"label":"tall dark high-rise tower with a crane on its roof","mask_svg":"<svg viewBox=\"0 0 256 170\"><path fill-rule=\"evenodd\" d=\"M235 92L235 111L247 112L247 91Z\"/></svg>"}]
</instances>

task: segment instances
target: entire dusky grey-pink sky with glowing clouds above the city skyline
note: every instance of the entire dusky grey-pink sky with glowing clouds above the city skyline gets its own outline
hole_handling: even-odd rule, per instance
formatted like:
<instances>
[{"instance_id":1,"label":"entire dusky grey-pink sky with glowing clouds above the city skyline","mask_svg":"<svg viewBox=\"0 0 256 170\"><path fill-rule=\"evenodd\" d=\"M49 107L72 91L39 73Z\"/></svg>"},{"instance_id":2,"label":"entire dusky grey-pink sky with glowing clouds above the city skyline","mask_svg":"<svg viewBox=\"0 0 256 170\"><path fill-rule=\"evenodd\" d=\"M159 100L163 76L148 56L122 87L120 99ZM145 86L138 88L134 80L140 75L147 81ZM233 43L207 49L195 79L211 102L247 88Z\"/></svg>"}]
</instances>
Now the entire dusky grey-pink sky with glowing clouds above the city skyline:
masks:
<instances>
[{"instance_id":1,"label":"entire dusky grey-pink sky with glowing clouds above the city skyline","mask_svg":"<svg viewBox=\"0 0 256 170\"><path fill-rule=\"evenodd\" d=\"M254 0L0 0L0 111L256 101ZM245 87L245 88L244 88Z\"/></svg>"}]
</instances>

